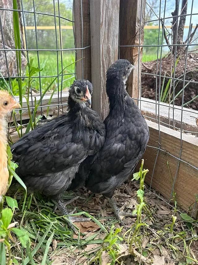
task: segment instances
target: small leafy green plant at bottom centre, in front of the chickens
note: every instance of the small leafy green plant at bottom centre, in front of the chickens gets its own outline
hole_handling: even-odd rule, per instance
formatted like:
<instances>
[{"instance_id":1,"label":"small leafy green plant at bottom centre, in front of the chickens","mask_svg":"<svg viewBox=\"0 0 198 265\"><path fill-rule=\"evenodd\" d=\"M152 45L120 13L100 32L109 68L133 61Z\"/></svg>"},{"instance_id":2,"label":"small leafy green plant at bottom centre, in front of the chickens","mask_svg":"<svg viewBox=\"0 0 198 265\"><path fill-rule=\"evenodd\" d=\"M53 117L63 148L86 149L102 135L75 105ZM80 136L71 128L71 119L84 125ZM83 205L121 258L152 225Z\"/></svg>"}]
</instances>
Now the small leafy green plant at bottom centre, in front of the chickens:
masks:
<instances>
[{"instance_id":1,"label":"small leafy green plant at bottom centre, in front of the chickens","mask_svg":"<svg viewBox=\"0 0 198 265\"><path fill-rule=\"evenodd\" d=\"M114 265L116 259L119 256L119 243L123 241L123 238L119 236L119 233L122 231L122 228L115 228L114 225L111 226L110 232L105 236L102 248L97 252L95 258L93 258L89 264L103 264L102 254L105 252L109 255L111 260L110 265Z\"/></svg>"}]
</instances>

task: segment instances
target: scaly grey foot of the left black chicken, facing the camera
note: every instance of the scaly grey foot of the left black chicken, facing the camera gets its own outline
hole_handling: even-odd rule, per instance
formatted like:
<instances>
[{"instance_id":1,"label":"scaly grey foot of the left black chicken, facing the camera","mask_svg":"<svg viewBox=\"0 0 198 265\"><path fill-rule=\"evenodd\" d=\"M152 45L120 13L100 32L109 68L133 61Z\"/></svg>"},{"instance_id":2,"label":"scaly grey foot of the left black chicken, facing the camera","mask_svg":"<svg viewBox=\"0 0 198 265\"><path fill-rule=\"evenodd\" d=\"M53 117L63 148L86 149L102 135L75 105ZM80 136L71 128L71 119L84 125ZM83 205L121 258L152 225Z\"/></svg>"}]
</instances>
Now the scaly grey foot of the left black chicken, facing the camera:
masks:
<instances>
[{"instance_id":1,"label":"scaly grey foot of the left black chicken, facing the camera","mask_svg":"<svg viewBox=\"0 0 198 265\"><path fill-rule=\"evenodd\" d=\"M71 199L70 201L67 202L67 204L69 204L69 202L73 202L75 200ZM72 211L68 211L67 208L64 207L64 205L62 204L62 202L60 200L55 201L52 200L53 203L58 207L58 209L62 212L63 215L70 215L72 214L75 210ZM80 218L80 217L75 217L75 216L68 216L67 217L69 219L70 222L67 222L68 226L76 233L78 234L78 230L75 228L75 226L72 224L72 222L86 222L86 221L90 221L91 218Z\"/></svg>"}]
</instances>

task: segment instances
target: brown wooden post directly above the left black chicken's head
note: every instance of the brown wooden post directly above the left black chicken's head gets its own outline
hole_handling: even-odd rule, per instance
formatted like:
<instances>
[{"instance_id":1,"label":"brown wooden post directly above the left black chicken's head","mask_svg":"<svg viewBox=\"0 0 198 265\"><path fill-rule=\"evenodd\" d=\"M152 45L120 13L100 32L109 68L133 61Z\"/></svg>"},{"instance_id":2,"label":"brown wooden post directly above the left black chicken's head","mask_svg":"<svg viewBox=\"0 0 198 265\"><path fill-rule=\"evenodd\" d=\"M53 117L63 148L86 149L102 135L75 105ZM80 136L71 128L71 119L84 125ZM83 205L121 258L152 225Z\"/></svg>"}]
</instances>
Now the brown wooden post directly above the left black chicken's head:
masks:
<instances>
[{"instance_id":1,"label":"brown wooden post directly above the left black chicken's head","mask_svg":"<svg viewBox=\"0 0 198 265\"><path fill-rule=\"evenodd\" d=\"M91 45L89 0L74 0L74 35L76 48ZM76 50L76 60L80 58L83 59L76 63L76 77L91 81L91 47Z\"/></svg>"}]
</instances>

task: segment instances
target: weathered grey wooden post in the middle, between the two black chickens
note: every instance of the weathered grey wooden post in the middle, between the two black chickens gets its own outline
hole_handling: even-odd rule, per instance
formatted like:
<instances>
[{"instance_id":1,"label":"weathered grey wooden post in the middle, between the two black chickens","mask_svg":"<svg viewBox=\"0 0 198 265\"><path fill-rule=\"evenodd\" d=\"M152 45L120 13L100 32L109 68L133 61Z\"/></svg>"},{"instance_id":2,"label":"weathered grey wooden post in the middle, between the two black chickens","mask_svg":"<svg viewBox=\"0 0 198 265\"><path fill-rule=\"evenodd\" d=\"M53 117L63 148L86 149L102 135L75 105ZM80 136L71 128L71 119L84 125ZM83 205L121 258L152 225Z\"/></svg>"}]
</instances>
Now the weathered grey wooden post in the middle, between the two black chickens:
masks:
<instances>
[{"instance_id":1,"label":"weathered grey wooden post in the middle, between the two black chickens","mask_svg":"<svg viewBox=\"0 0 198 265\"><path fill-rule=\"evenodd\" d=\"M93 109L107 116L105 73L118 59L119 0L90 0Z\"/></svg>"}]
</instances>

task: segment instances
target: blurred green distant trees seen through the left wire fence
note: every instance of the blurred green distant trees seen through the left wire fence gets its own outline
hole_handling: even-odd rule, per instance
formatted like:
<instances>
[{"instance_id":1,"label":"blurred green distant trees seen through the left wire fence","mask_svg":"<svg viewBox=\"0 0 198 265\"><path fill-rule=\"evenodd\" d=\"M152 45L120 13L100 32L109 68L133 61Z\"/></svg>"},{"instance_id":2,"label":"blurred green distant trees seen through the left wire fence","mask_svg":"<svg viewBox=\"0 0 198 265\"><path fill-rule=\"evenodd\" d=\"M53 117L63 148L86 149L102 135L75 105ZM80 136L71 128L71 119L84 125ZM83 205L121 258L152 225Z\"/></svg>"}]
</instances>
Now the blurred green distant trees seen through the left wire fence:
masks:
<instances>
[{"instance_id":1,"label":"blurred green distant trees seen through the left wire fence","mask_svg":"<svg viewBox=\"0 0 198 265\"><path fill-rule=\"evenodd\" d=\"M29 0L23 0L24 9L27 11L34 11L33 4ZM46 15L36 14L36 25L37 26L54 26L54 16L48 16L47 14L58 16L58 3L54 3L52 0L35 1L35 11L45 13ZM66 5L65 3L59 3L60 11L60 25L72 26L72 9L71 4ZM70 20L70 21L68 21ZM34 26L35 18L33 13L25 13L25 25ZM59 25L59 18L56 17L56 25ZM56 49L56 33L55 30L38 30L37 29L37 44L39 49ZM26 30L27 47L28 49L36 49L36 32L35 30ZM73 48L74 38L73 30L62 30L62 48ZM60 48L60 36L59 30L57 30L58 48Z\"/></svg>"}]
</instances>

